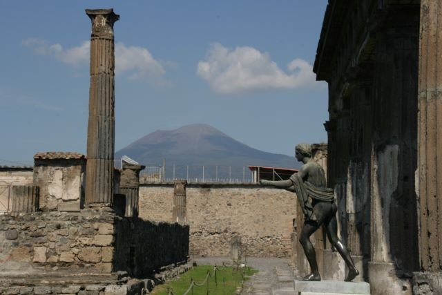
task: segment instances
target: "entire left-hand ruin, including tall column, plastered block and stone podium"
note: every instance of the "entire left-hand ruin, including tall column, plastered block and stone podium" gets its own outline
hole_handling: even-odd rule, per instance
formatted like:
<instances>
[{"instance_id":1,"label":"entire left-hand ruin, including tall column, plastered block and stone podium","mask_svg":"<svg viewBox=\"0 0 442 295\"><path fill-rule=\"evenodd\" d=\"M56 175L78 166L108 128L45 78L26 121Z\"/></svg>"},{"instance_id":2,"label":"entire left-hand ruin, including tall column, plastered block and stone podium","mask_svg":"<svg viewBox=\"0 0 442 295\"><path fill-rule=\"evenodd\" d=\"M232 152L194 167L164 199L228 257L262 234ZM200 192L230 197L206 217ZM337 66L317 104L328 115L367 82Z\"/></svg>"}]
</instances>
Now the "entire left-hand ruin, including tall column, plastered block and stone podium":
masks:
<instances>
[{"instance_id":1,"label":"entire left-hand ruin, including tall column, plastered block and stone podium","mask_svg":"<svg viewBox=\"0 0 442 295\"><path fill-rule=\"evenodd\" d=\"M114 168L112 9L92 21L87 157L0 169L0 294L144 294L184 272L189 226L138 218L141 165Z\"/></svg>"}]
</instances>

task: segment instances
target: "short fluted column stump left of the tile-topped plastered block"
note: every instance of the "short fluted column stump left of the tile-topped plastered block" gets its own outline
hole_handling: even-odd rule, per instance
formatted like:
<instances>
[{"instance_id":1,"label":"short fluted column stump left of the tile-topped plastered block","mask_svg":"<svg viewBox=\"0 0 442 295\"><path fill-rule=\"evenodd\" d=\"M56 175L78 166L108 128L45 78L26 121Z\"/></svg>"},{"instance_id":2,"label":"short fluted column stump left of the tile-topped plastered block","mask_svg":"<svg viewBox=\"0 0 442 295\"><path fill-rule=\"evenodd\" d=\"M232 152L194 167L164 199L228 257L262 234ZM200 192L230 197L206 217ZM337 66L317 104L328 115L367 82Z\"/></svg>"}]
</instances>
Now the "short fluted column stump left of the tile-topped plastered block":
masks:
<instances>
[{"instance_id":1,"label":"short fluted column stump left of the tile-topped plastered block","mask_svg":"<svg viewBox=\"0 0 442 295\"><path fill-rule=\"evenodd\" d=\"M12 215L35 212L39 209L39 187L20 185L12 187Z\"/></svg>"}]
</instances>

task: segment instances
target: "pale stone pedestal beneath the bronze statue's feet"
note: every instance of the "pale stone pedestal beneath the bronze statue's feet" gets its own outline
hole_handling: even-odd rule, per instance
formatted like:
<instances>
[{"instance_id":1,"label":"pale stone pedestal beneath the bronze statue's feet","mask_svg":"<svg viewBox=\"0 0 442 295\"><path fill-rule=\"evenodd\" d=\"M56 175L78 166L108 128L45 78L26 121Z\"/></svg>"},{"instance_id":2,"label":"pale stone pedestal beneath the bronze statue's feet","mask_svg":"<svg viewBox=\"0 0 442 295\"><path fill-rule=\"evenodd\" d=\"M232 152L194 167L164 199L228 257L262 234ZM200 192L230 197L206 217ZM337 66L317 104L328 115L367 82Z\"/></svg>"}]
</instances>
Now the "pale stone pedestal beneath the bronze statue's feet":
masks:
<instances>
[{"instance_id":1,"label":"pale stone pedestal beneath the bronze statue's feet","mask_svg":"<svg viewBox=\"0 0 442 295\"><path fill-rule=\"evenodd\" d=\"M340 280L294 281L296 295L369 295L370 285L365 282L343 282Z\"/></svg>"}]
</instances>

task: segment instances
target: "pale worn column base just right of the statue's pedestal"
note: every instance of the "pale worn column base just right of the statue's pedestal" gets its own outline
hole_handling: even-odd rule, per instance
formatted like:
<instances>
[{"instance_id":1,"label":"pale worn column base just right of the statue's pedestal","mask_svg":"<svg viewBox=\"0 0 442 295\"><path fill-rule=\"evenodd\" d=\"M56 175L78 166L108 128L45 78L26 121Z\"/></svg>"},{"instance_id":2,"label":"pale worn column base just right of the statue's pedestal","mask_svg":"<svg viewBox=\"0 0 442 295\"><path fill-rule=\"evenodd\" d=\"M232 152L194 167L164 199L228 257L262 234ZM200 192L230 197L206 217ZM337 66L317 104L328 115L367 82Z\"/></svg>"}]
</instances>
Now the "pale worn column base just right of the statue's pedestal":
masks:
<instances>
[{"instance_id":1,"label":"pale worn column base just right of the statue's pedestal","mask_svg":"<svg viewBox=\"0 0 442 295\"><path fill-rule=\"evenodd\" d=\"M410 281L398 278L394 263L369 262L368 278L372 294L412 295Z\"/></svg>"}]
</instances>

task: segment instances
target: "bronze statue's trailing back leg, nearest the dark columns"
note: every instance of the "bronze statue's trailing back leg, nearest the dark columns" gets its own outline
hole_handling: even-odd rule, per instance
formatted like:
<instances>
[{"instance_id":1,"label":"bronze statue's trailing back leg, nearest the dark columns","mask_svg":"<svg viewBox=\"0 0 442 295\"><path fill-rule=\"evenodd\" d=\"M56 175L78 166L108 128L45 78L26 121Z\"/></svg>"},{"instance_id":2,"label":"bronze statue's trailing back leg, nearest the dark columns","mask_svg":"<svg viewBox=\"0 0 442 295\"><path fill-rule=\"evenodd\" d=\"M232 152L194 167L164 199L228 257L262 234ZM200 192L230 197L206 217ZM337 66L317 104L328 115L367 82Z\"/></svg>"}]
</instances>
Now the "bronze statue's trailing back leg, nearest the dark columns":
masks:
<instances>
[{"instance_id":1,"label":"bronze statue's trailing back leg, nearest the dark columns","mask_svg":"<svg viewBox=\"0 0 442 295\"><path fill-rule=\"evenodd\" d=\"M356 278L356 276L359 274L358 269L354 266L354 262L352 259L352 256L350 256L349 251L347 247L343 244L343 242L338 238L338 222L336 221L336 204L333 204L334 210L331 218L328 220L325 220L324 222L324 228L325 232L327 233L327 237L329 238L329 241L334 245L336 250L338 250L340 256L343 257L345 264L347 264L347 267L349 269L349 272L347 274L347 278L345 278L345 281L349 282Z\"/></svg>"}]
</instances>

